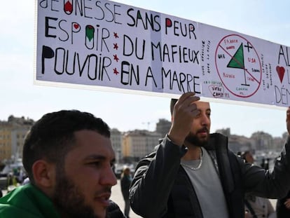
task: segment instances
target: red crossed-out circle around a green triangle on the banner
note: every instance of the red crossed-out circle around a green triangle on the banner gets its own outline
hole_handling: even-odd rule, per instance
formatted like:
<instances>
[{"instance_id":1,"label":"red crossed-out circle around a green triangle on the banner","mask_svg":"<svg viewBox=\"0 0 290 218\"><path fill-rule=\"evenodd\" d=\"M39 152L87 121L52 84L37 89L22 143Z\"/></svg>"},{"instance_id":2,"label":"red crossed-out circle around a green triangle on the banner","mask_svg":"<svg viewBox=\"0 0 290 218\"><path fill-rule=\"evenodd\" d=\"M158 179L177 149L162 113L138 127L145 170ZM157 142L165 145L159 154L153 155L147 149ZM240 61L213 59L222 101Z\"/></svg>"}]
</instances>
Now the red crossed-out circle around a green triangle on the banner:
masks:
<instances>
[{"instance_id":1,"label":"red crossed-out circle around a green triangle on the banner","mask_svg":"<svg viewBox=\"0 0 290 218\"><path fill-rule=\"evenodd\" d=\"M261 60L254 46L240 35L230 34L219 41L215 64L223 86L237 97L251 97L261 86Z\"/></svg>"}]
</instances>

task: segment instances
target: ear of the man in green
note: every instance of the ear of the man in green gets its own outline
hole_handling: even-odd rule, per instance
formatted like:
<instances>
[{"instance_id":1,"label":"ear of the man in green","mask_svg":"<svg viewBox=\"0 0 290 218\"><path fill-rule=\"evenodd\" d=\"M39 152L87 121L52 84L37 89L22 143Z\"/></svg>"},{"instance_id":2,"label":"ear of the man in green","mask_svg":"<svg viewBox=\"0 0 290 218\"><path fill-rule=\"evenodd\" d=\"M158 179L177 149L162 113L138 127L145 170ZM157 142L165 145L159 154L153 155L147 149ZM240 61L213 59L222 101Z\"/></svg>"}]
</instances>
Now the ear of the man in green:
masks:
<instances>
[{"instance_id":1,"label":"ear of the man in green","mask_svg":"<svg viewBox=\"0 0 290 218\"><path fill-rule=\"evenodd\" d=\"M35 161L32 165L34 182L37 186L49 189L55 183L55 164L44 160Z\"/></svg>"}]
</instances>

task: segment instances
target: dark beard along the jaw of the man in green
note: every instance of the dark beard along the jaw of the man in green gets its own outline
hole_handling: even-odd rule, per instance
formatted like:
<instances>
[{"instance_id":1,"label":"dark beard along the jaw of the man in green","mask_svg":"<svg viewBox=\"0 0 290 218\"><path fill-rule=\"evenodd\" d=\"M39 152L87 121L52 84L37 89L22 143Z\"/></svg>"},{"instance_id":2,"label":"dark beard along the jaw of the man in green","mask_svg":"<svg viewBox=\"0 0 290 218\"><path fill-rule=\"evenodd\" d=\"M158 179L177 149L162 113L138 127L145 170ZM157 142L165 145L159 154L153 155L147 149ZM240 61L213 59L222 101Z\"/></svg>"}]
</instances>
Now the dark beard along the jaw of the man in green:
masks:
<instances>
[{"instance_id":1,"label":"dark beard along the jaw of the man in green","mask_svg":"<svg viewBox=\"0 0 290 218\"><path fill-rule=\"evenodd\" d=\"M64 217L97 218L94 210L85 204L85 197L78 187L58 168L53 203Z\"/></svg>"}]
</instances>

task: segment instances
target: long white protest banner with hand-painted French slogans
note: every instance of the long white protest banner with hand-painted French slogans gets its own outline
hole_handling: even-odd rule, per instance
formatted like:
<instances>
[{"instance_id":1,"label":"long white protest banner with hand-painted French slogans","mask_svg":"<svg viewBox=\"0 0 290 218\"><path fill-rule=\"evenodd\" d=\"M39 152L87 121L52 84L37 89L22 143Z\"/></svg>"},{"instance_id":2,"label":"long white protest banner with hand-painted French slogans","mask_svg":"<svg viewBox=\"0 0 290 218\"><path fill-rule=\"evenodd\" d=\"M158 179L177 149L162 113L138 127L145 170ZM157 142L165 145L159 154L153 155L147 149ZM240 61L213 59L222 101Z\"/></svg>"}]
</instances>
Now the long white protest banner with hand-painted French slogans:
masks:
<instances>
[{"instance_id":1,"label":"long white protest banner with hand-painted French slogans","mask_svg":"<svg viewBox=\"0 0 290 218\"><path fill-rule=\"evenodd\" d=\"M38 0L35 83L289 106L289 47L97 0Z\"/></svg>"}]
</instances>

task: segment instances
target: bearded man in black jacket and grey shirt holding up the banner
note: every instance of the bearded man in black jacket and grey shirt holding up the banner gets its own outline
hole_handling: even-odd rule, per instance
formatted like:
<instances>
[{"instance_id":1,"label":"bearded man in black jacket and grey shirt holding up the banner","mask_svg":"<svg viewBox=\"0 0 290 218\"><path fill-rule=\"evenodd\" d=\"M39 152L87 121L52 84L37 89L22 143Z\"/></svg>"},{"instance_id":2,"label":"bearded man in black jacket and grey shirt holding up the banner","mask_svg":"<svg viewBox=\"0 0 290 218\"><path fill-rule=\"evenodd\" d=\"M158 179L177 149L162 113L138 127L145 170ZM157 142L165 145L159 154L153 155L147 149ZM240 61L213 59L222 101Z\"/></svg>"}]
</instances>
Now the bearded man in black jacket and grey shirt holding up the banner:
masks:
<instances>
[{"instance_id":1,"label":"bearded man in black jacket and grey shirt holding up the banner","mask_svg":"<svg viewBox=\"0 0 290 218\"><path fill-rule=\"evenodd\" d=\"M244 163L228 149L226 136L209 134L209 102L190 92L172 99L170 105L170 131L139 161L134 172L130 205L136 214L149 218L244 218L246 192L279 198L290 189L290 137L286 152L270 172ZM290 129L290 121L286 124Z\"/></svg>"}]
</instances>

